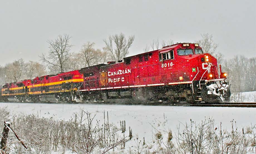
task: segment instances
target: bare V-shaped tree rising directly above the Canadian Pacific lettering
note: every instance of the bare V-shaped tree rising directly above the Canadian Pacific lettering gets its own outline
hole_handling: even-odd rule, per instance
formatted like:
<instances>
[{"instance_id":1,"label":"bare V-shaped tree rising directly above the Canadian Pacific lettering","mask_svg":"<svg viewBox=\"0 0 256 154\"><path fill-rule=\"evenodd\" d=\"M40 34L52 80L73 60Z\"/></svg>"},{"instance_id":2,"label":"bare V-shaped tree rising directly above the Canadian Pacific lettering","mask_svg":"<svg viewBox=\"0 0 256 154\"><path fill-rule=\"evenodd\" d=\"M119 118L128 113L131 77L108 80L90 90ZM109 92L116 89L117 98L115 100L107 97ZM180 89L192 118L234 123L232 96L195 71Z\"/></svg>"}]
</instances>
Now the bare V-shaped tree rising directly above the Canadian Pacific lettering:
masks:
<instances>
[{"instance_id":1,"label":"bare V-shaped tree rising directly above the Canadian Pacific lettering","mask_svg":"<svg viewBox=\"0 0 256 154\"><path fill-rule=\"evenodd\" d=\"M106 44L106 49L112 54L112 60L122 60L129 54L129 48L134 41L134 35L125 38L124 34L114 34L109 36L108 39L103 39Z\"/></svg>"}]
</instances>

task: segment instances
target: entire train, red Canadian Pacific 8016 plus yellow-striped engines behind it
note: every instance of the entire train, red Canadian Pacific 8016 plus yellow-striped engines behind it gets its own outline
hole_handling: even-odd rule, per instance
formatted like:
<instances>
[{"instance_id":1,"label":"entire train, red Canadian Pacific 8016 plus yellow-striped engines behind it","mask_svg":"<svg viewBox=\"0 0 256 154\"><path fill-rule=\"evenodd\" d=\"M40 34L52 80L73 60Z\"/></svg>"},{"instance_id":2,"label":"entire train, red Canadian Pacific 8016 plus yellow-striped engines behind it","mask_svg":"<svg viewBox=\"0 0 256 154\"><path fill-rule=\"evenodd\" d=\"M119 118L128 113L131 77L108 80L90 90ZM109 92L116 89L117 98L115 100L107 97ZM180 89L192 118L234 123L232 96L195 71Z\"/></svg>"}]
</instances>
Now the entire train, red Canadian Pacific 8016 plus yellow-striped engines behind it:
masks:
<instances>
[{"instance_id":1,"label":"entire train, red Canadian Pacific 8016 plus yellow-striped engines behind it","mask_svg":"<svg viewBox=\"0 0 256 154\"><path fill-rule=\"evenodd\" d=\"M9 101L220 102L230 97L227 74L198 44L178 43L57 75L3 85Z\"/></svg>"}]
</instances>

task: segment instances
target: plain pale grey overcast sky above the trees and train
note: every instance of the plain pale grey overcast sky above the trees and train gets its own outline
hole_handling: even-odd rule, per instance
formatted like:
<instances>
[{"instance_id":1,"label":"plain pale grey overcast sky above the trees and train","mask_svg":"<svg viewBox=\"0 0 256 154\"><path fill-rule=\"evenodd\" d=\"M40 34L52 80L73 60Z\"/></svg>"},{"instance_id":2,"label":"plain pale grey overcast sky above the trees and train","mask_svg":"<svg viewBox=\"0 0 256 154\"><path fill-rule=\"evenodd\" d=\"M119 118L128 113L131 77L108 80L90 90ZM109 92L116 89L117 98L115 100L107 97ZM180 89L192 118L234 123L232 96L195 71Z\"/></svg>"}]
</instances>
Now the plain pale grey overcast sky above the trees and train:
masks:
<instances>
[{"instance_id":1,"label":"plain pale grey overcast sky above the trees and train","mask_svg":"<svg viewBox=\"0 0 256 154\"><path fill-rule=\"evenodd\" d=\"M226 58L256 56L255 0L0 2L0 65L39 61L47 40L63 33L72 36L72 52L87 41L101 49L104 38L120 32L135 35L130 55L156 38L194 42L209 33Z\"/></svg>"}]
</instances>

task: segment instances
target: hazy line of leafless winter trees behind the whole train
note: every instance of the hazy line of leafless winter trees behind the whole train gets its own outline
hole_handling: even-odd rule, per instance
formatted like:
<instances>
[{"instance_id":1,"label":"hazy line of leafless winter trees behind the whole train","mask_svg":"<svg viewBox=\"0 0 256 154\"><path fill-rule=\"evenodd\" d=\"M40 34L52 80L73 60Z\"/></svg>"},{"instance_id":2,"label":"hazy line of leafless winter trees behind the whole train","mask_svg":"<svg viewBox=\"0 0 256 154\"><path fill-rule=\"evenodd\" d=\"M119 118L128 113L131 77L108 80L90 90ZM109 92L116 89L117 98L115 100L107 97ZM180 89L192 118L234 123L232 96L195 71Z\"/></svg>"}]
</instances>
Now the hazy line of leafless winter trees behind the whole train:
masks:
<instances>
[{"instance_id":1,"label":"hazy line of leafless winter trees behind the whole train","mask_svg":"<svg viewBox=\"0 0 256 154\"><path fill-rule=\"evenodd\" d=\"M0 84L122 60L129 55L134 38L134 36L125 37L121 32L103 39L105 47L102 49L95 48L94 42L86 42L80 51L72 52L73 45L70 42L72 37L68 34L59 35L56 39L47 41L49 50L47 54L39 55L41 63L18 59L0 66ZM194 42L198 43L205 53L217 58L223 72L228 73L232 92L256 91L256 57L235 55L231 59L225 59L218 51L218 44L213 41L213 36L208 33L201 34L201 39ZM149 46L146 45L142 52L161 49L172 44L174 41L171 39L160 41L157 38Z\"/></svg>"}]
</instances>

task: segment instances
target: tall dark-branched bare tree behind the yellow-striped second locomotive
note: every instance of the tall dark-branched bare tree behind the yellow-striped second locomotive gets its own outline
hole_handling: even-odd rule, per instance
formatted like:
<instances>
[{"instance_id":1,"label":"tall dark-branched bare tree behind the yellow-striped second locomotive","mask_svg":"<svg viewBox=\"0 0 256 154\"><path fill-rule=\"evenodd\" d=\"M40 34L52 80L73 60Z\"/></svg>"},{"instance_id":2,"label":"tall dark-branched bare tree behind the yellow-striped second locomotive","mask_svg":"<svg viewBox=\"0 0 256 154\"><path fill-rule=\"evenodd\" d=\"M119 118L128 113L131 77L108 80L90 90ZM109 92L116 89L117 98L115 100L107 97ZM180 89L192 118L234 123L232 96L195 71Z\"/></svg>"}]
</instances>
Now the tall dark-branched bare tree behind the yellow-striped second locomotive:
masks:
<instances>
[{"instance_id":1,"label":"tall dark-branched bare tree behind the yellow-striped second locomotive","mask_svg":"<svg viewBox=\"0 0 256 154\"><path fill-rule=\"evenodd\" d=\"M68 34L59 35L55 40L48 40L49 51L48 56L42 54L40 56L41 60L48 65L55 66L51 67L56 69L53 71L64 72L67 68L66 63L71 57L72 53L70 49L72 45L70 44L70 38Z\"/></svg>"}]
</instances>

